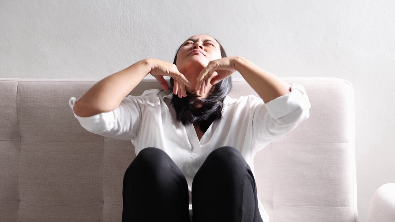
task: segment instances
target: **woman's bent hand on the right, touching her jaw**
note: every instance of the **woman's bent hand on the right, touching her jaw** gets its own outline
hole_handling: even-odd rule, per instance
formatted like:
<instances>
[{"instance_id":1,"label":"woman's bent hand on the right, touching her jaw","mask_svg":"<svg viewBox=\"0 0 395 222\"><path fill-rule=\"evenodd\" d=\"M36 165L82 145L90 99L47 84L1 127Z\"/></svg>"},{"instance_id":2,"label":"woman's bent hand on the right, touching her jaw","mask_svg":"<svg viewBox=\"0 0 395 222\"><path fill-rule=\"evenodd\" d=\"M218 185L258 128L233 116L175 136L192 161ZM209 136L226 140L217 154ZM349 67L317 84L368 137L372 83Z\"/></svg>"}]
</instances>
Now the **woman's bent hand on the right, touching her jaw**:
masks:
<instances>
[{"instance_id":1,"label":"woman's bent hand on the right, touching her jaw","mask_svg":"<svg viewBox=\"0 0 395 222\"><path fill-rule=\"evenodd\" d=\"M236 70L235 62L239 56L224 57L212 60L207 66L201 70L196 82L195 90L200 93L206 93L207 85L210 81L211 85L217 84L222 79L226 79Z\"/></svg>"}]
</instances>

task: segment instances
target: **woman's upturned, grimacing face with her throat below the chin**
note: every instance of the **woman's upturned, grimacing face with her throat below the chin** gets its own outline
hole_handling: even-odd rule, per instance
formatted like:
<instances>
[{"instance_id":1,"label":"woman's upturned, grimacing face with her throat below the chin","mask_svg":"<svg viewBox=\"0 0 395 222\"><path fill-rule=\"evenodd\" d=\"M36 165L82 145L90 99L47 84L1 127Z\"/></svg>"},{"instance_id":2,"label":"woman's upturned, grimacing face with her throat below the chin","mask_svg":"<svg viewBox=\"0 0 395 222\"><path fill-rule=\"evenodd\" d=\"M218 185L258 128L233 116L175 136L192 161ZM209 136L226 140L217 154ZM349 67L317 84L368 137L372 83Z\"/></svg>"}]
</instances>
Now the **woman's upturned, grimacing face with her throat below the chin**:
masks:
<instances>
[{"instance_id":1,"label":"woman's upturned, grimacing face with her throat below the chin","mask_svg":"<svg viewBox=\"0 0 395 222\"><path fill-rule=\"evenodd\" d=\"M193 50L199 50L202 53L191 53ZM191 88L194 88L200 71L211 60L220 58L220 45L213 37L196 35L182 43L177 53L176 66L180 73L184 74L188 81L192 83L193 87Z\"/></svg>"}]
</instances>

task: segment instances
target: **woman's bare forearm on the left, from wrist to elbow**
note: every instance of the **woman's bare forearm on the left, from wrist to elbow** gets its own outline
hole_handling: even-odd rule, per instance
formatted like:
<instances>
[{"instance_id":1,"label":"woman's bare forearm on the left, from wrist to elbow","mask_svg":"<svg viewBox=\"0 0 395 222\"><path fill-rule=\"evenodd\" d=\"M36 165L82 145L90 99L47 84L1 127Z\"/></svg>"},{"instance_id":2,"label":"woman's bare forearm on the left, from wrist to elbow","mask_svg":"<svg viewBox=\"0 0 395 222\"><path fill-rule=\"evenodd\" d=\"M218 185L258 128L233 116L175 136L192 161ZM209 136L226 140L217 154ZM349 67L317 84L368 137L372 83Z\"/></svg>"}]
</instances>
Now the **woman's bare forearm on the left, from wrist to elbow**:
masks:
<instances>
[{"instance_id":1,"label":"woman's bare forearm on the left, from wrist to elbow","mask_svg":"<svg viewBox=\"0 0 395 222\"><path fill-rule=\"evenodd\" d=\"M75 102L74 113L80 117L90 117L116 109L150 71L149 60L144 59L105 77Z\"/></svg>"}]
</instances>

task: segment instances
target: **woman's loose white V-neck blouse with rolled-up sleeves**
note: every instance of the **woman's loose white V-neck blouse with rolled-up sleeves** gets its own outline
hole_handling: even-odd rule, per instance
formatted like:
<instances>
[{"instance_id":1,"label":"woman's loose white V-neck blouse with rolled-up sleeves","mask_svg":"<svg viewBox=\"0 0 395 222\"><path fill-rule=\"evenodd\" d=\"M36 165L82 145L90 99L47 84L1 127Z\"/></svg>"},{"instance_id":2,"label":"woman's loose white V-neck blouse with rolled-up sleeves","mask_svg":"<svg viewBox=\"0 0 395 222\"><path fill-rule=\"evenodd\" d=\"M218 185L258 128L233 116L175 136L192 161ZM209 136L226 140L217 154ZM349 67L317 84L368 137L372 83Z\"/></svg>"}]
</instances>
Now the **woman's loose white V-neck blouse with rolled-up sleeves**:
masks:
<instances>
[{"instance_id":1,"label":"woman's loose white V-neck blouse with rolled-up sleeves","mask_svg":"<svg viewBox=\"0 0 395 222\"><path fill-rule=\"evenodd\" d=\"M188 182L191 221L192 180L211 151L223 146L235 147L254 173L256 152L308 119L311 107L305 88L297 83L292 85L290 93L268 103L253 95L238 100L226 96L222 119L214 121L199 141L193 124L184 126L177 121L170 104L172 96L171 90L150 89L141 96L127 96L110 112L91 117L73 113L89 132L132 141L136 155L146 147L165 151ZM75 97L70 98L71 109L75 101ZM263 221L269 222L259 197L258 204Z\"/></svg>"}]
</instances>

